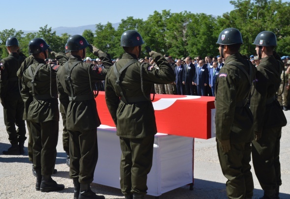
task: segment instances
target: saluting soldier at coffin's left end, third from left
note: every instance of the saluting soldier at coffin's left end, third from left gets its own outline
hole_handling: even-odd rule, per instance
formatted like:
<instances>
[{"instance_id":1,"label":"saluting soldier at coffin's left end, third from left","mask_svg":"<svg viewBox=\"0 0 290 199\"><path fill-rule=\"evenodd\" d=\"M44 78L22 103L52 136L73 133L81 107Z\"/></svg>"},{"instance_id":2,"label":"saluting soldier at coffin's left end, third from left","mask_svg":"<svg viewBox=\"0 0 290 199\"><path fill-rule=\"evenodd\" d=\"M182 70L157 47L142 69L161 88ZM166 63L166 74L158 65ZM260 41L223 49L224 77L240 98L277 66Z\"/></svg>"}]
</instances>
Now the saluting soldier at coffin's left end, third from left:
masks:
<instances>
[{"instance_id":1,"label":"saluting soldier at coffin's left end, third from left","mask_svg":"<svg viewBox=\"0 0 290 199\"><path fill-rule=\"evenodd\" d=\"M97 81L105 79L113 63L110 56L89 45L81 35L69 37L67 47L71 55L58 70L57 78L70 137L69 174L74 183L74 199L104 199L90 189L98 160L97 127L101 124L92 88ZM82 61L86 47L101 58L104 68Z\"/></svg>"}]
</instances>

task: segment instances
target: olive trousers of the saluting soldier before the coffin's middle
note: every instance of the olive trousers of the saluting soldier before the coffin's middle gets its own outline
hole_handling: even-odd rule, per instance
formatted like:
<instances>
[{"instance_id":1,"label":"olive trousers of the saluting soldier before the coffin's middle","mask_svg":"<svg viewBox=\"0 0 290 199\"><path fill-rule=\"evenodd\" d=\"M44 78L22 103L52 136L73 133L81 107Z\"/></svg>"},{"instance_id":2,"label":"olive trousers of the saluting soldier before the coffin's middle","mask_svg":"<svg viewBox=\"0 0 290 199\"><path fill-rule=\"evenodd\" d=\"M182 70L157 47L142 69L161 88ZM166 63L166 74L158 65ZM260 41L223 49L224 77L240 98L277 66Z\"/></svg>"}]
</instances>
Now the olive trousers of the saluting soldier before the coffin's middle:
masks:
<instances>
[{"instance_id":1,"label":"olive trousers of the saluting soldier before the coffin's middle","mask_svg":"<svg viewBox=\"0 0 290 199\"><path fill-rule=\"evenodd\" d=\"M147 174L152 167L154 135L130 139L120 137L120 185L123 195L147 192Z\"/></svg>"}]
</instances>

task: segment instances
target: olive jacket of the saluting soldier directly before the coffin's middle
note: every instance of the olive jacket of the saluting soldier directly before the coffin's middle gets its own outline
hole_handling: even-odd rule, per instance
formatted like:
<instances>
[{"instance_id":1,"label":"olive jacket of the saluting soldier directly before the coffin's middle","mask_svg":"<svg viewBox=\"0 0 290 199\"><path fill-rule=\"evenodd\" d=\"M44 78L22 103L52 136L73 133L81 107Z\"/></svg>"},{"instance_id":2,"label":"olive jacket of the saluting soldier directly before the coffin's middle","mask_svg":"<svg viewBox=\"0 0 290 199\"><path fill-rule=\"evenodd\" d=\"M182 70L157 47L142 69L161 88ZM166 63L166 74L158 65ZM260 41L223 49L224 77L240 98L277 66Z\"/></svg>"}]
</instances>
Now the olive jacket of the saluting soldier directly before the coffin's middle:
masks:
<instances>
[{"instance_id":1,"label":"olive jacket of the saluting soldier directly before the coffin's middle","mask_svg":"<svg viewBox=\"0 0 290 199\"><path fill-rule=\"evenodd\" d=\"M123 54L116 62L119 71L127 62L136 59L130 54ZM149 64L135 62L125 69L120 75L120 84L126 98L142 97L142 86L145 95L149 95L152 85L170 84L174 82L174 71L169 62L160 54L152 55L157 68L148 70ZM141 69L142 68L142 77ZM143 85L141 83L143 79ZM124 138L144 138L157 133L155 115L152 102L144 100L125 104L120 101L120 91L116 85L116 75L111 67L105 81L106 102L110 114L116 124L117 135Z\"/></svg>"}]
</instances>

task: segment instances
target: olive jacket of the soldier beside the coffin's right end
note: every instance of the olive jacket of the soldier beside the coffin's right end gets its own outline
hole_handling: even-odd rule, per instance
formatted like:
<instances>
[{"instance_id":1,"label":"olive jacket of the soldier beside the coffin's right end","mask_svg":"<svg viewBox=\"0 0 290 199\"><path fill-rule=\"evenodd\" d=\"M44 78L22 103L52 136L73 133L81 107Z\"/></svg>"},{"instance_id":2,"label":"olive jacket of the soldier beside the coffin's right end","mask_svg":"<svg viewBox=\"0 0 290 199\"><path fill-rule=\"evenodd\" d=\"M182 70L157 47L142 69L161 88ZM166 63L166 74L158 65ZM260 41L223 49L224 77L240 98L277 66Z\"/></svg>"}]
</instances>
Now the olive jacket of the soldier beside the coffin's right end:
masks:
<instances>
[{"instance_id":1,"label":"olive jacket of the soldier beside the coffin's right end","mask_svg":"<svg viewBox=\"0 0 290 199\"><path fill-rule=\"evenodd\" d=\"M251 89L246 74L235 64L242 63L244 70L253 74L257 69L243 59L239 53L226 58L216 80L216 138L231 143L251 142L254 139L253 114L243 103ZM252 76L251 83L254 80ZM245 105L245 106L244 106Z\"/></svg>"}]
</instances>

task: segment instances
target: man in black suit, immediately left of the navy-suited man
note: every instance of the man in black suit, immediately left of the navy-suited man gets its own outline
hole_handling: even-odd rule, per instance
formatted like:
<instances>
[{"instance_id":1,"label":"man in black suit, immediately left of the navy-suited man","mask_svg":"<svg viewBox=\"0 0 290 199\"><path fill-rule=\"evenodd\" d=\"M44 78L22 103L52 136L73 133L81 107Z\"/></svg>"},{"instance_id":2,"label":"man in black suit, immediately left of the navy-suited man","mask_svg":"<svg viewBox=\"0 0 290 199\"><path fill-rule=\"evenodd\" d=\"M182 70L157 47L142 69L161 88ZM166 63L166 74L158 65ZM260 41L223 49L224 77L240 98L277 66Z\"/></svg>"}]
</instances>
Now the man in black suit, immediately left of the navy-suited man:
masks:
<instances>
[{"instance_id":1,"label":"man in black suit, immediately left of the navy-suited man","mask_svg":"<svg viewBox=\"0 0 290 199\"><path fill-rule=\"evenodd\" d=\"M186 95L195 95L194 89L194 76L195 76L195 65L191 62L191 57L185 58L186 65L183 69L183 81L182 84L185 85Z\"/></svg>"}]
</instances>

